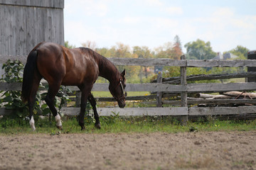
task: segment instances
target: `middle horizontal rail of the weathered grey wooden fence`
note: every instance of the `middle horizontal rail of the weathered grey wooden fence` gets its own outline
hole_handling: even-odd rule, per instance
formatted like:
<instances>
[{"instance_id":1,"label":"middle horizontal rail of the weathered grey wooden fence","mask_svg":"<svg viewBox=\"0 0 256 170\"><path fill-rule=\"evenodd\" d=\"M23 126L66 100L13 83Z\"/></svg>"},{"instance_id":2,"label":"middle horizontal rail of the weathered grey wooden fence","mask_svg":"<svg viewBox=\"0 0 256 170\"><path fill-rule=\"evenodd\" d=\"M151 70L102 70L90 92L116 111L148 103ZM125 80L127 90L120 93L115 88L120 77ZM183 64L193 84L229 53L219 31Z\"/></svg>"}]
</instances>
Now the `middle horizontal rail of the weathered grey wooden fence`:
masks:
<instances>
[{"instance_id":1,"label":"middle horizontal rail of the weathered grey wooden fence","mask_svg":"<svg viewBox=\"0 0 256 170\"><path fill-rule=\"evenodd\" d=\"M0 82L0 91L21 91L21 83ZM94 84L92 91L109 91L109 84ZM71 91L79 91L76 86L67 86ZM46 90L46 89L39 89ZM165 91L169 93L197 93L197 92L222 92L222 91L253 91L256 83L228 83L228 84L127 84L125 91Z\"/></svg>"}]
</instances>

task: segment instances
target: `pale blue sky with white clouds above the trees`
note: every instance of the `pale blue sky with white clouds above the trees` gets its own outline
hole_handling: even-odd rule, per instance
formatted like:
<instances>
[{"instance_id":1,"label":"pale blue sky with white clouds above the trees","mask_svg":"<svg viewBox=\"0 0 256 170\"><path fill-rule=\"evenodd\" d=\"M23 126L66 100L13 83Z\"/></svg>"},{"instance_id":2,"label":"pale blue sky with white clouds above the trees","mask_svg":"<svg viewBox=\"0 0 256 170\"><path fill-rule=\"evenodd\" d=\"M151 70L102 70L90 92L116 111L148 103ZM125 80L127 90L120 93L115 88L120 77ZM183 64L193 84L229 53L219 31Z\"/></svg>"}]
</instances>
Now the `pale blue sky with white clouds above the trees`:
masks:
<instances>
[{"instance_id":1,"label":"pale blue sky with white clouds above the trees","mask_svg":"<svg viewBox=\"0 0 256 170\"><path fill-rule=\"evenodd\" d=\"M178 35L185 53L184 45L197 39L214 52L256 50L255 7L255 0L65 0L65 41L154 50Z\"/></svg>"}]
</instances>

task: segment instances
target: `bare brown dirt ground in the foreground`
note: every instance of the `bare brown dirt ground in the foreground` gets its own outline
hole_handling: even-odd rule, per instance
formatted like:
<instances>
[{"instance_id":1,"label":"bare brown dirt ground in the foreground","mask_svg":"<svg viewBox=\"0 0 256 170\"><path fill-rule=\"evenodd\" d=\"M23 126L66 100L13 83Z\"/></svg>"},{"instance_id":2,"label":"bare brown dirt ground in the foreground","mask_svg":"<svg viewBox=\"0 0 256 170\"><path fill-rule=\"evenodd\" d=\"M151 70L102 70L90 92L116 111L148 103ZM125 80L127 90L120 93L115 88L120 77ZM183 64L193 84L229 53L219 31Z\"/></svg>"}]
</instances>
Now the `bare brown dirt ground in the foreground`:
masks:
<instances>
[{"instance_id":1,"label":"bare brown dirt ground in the foreground","mask_svg":"<svg viewBox=\"0 0 256 170\"><path fill-rule=\"evenodd\" d=\"M256 169L256 130L0 135L0 169Z\"/></svg>"}]
</instances>

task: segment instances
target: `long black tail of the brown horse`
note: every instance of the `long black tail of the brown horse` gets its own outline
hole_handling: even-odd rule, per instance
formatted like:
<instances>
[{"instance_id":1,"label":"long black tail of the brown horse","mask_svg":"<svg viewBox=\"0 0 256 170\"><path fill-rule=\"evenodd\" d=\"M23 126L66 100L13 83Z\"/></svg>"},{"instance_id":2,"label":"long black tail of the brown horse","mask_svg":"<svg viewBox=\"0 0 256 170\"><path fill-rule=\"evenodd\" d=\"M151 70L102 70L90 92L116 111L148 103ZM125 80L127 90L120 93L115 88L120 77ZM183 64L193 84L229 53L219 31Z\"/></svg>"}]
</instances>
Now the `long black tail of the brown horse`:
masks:
<instances>
[{"instance_id":1,"label":"long black tail of the brown horse","mask_svg":"<svg viewBox=\"0 0 256 170\"><path fill-rule=\"evenodd\" d=\"M37 51L33 50L29 53L28 59L23 71L23 83L22 83L22 92L21 98L23 102L28 101L28 97L33 88L33 77L37 72L36 60L37 60Z\"/></svg>"}]
</instances>

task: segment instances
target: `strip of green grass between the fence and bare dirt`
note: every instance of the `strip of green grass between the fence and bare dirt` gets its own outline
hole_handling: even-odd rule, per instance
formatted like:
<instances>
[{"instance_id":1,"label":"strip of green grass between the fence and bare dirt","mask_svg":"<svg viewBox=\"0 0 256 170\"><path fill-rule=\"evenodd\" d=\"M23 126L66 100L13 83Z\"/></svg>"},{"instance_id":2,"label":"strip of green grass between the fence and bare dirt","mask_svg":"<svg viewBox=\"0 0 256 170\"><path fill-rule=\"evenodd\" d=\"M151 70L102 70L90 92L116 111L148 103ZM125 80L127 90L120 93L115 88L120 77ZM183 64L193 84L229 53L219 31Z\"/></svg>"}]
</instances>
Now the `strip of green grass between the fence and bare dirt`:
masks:
<instances>
[{"instance_id":1,"label":"strip of green grass between the fence and bare dirt","mask_svg":"<svg viewBox=\"0 0 256 170\"><path fill-rule=\"evenodd\" d=\"M90 120L90 121L88 121ZM175 118L171 117L130 117L124 118L118 115L101 117L101 130L94 127L94 123L88 117L85 122L85 131L75 118L63 118L63 130L55 128L55 121L51 124L48 119L36 120L36 132L32 132L28 120L0 119L0 134L23 134L23 133L44 133L58 135L58 133L131 133L131 132L206 132L206 131L250 131L256 130L256 120L235 121L235 120L207 120L189 122L186 126L179 125Z\"/></svg>"}]
</instances>

